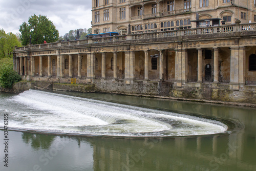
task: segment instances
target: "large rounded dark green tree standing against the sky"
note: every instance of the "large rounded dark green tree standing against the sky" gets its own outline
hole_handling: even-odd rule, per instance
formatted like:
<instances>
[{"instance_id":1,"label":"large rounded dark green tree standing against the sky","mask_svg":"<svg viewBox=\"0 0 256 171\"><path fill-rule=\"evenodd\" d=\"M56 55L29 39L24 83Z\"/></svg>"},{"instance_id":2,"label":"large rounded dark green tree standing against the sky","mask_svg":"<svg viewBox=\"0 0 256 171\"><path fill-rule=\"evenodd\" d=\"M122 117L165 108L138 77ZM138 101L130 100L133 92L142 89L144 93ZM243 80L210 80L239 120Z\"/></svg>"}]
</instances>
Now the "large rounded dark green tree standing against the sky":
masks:
<instances>
[{"instance_id":1,"label":"large rounded dark green tree standing against the sky","mask_svg":"<svg viewBox=\"0 0 256 171\"><path fill-rule=\"evenodd\" d=\"M29 44L31 35L32 44L42 44L45 40L47 42L55 42L58 40L59 31L44 15L32 15L29 17L28 24L24 22L19 26L20 40L22 45L26 46Z\"/></svg>"}]
</instances>

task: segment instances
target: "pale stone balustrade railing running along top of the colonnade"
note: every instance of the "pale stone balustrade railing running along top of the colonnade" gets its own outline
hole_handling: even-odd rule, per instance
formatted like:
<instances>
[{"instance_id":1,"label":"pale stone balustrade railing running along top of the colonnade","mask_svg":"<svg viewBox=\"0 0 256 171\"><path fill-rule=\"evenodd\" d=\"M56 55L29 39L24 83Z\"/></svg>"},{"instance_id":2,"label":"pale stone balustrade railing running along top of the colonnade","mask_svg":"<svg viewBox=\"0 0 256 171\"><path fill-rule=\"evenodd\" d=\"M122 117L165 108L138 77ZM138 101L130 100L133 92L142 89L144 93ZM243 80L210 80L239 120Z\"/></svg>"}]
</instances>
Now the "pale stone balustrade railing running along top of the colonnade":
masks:
<instances>
[{"instance_id":1,"label":"pale stone balustrade railing running along top of the colonnade","mask_svg":"<svg viewBox=\"0 0 256 171\"><path fill-rule=\"evenodd\" d=\"M15 48L15 52L26 52L28 50L40 50L40 49L51 49L56 47L71 47L71 46L81 46L87 47L91 44L102 44L102 43L112 43L115 41L127 41L127 40L143 40L143 39L154 39L154 38L167 38L176 36L191 36L191 35L207 35L215 33L234 33L234 32L252 32L256 31L256 23L251 24L241 24L241 25L226 25L226 26L214 26L214 27L204 27L204 28L192 28L192 29L180 29L180 30L170 30L161 32L151 32L151 33L139 33L130 35L120 35L112 37L100 37L96 39L84 39L84 40L74 40L74 41L60 41L50 44L40 44L31 45L26 47ZM220 35L218 34L218 37Z\"/></svg>"}]
</instances>

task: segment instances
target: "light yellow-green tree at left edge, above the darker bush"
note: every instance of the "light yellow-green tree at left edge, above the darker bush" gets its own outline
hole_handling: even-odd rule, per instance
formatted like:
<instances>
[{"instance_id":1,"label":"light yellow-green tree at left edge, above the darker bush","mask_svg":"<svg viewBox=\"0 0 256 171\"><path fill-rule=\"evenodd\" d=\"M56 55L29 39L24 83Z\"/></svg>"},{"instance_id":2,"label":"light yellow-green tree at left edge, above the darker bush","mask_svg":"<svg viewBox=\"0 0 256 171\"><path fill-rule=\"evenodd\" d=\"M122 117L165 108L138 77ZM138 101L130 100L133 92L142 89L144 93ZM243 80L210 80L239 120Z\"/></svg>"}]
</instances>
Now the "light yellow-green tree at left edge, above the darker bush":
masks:
<instances>
[{"instance_id":1,"label":"light yellow-green tree at left edge, above the darker bush","mask_svg":"<svg viewBox=\"0 0 256 171\"><path fill-rule=\"evenodd\" d=\"M14 47L22 46L17 36L13 33L5 33L0 29L0 58L12 58Z\"/></svg>"}]
</instances>

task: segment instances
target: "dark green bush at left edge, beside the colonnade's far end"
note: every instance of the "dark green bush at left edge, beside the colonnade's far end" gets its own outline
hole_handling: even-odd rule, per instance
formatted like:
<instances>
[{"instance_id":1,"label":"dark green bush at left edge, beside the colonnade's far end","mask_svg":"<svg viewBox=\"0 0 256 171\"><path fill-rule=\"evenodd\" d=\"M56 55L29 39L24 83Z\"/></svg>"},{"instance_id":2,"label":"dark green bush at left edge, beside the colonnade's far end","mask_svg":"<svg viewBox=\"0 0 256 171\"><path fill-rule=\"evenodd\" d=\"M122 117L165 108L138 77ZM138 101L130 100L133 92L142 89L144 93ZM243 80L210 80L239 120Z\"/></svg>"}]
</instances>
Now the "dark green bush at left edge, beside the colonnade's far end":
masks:
<instances>
[{"instance_id":1,"label":"dark green bush at left edge, beside the colonnade's far end","mask_svg":"<svg viewBox=\"0 0 256 171\"><path fill-rule=\"evenodd\" d=\"M0 60L0 83L1 87L12 89L15 82L20 81L22 78L18 73L13 71L12 59L4 58Z\"/></svg>"}]
</instances>

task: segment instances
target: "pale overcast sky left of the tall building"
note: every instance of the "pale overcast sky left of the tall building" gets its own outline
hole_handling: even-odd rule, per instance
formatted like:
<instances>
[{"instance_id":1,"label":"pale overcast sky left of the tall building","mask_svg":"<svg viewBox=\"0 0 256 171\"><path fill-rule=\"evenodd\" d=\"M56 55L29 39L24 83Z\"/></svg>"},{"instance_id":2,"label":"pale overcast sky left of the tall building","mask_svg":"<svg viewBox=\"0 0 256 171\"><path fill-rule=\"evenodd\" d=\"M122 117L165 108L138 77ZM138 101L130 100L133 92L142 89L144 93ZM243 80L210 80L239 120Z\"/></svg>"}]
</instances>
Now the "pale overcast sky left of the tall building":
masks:
<instances>
[{"instance_id":1,"label":"pale overcast sky left of the tall building","mask_svg":"<svg viewBox=\"0 0 256 171\"><path fill-rule=\"evenodd\" d=\"M31 15L46 15L59 35L70 30L91 28L91 0L0 0L0 29L18 33Z\"/></svg>"}]
</instances>

